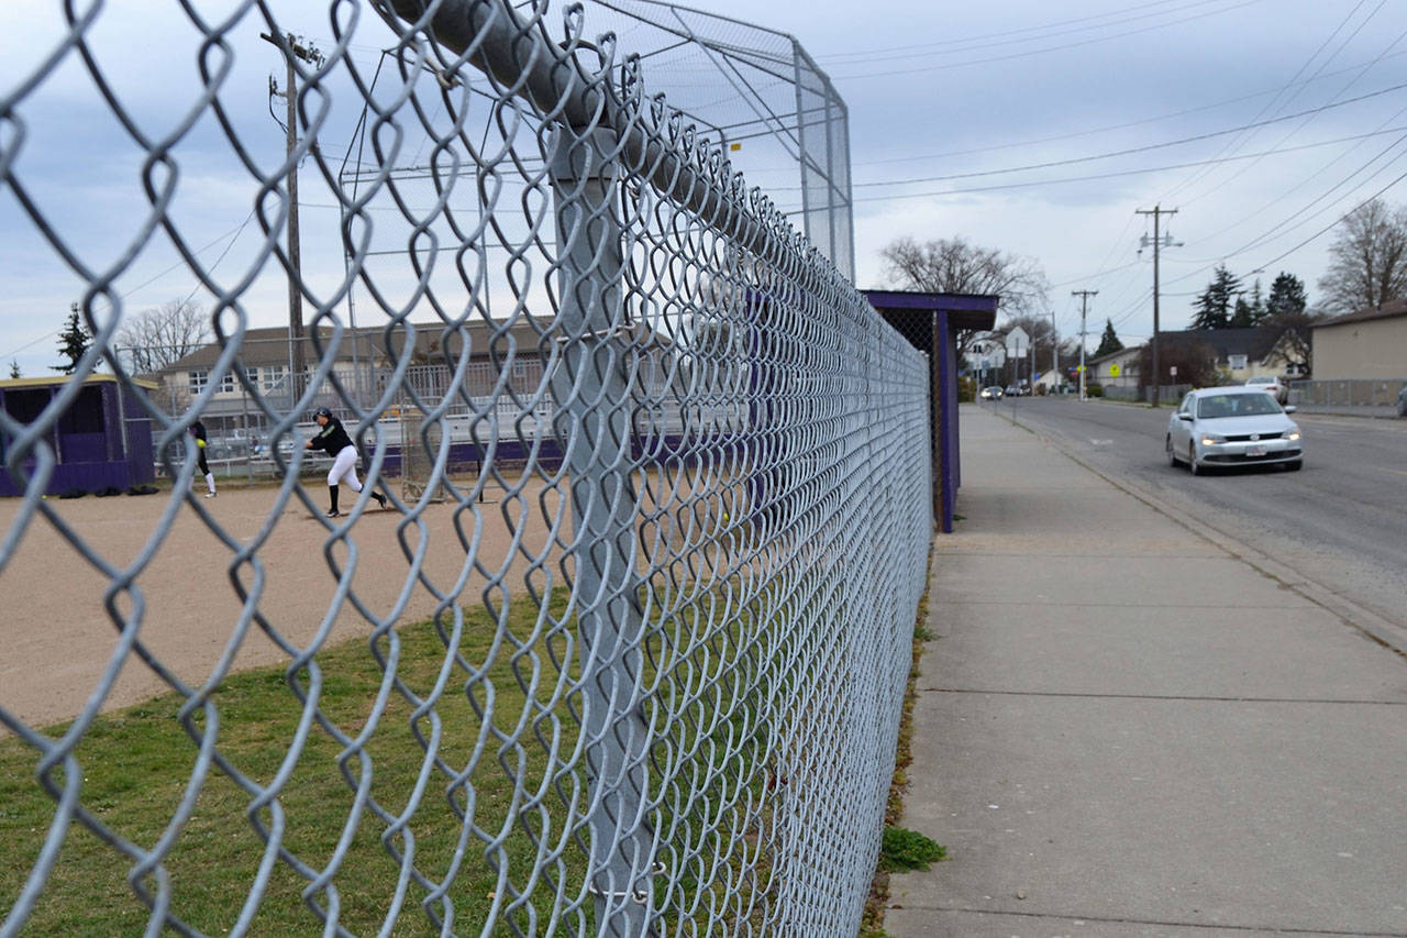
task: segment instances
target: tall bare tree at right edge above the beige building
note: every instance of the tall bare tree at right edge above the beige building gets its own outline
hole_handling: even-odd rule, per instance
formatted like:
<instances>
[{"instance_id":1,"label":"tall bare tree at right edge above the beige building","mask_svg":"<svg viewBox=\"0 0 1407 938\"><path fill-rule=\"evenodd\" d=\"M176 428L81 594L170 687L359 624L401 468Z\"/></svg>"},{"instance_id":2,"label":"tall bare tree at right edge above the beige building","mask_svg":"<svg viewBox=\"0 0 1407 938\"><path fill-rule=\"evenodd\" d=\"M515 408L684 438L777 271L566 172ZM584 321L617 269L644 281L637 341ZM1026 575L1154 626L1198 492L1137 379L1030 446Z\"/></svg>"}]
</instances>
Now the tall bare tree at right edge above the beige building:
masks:
<instances>
[{"instance_id":1,"label":"tall bare tree at right edge above the beige building","mask_svg":"<svg viewBox=\"0 0 1407 938\"><path fill-rule=\"evenodd\" d=\"M1320 277L1323 308L1352 313L1407 296L1407 208L1375 199L1349 213Z\"/></svg>"}]
</instances>

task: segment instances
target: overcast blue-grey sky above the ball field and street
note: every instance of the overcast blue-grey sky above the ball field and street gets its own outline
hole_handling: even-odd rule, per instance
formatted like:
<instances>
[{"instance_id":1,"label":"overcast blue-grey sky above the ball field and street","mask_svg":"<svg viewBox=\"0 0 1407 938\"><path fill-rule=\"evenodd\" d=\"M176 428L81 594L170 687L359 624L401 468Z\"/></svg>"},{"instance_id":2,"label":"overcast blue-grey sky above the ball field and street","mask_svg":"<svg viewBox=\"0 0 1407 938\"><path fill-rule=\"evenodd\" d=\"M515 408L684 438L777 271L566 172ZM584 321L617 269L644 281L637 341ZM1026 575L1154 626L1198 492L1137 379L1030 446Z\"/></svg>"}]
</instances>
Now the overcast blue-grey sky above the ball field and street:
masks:
<instances>
[{"instance_id":1,"label":"overcast blue-grey sky above the ball field and street","mask_svg":"<svg viewBox=\"0 0 1407 938\"><path fill-rule=\"evenodd\" d=\"M66 31L61 6L6 0L0 96L13 96L53 52ZM174 6L110 3L90 34L106 51L103 73L118 99L135 114L160 115L142 124L153 138L200 108L191 80L200 37ZM194 6L214 23L239 4ZM329 4L272 6L291 17L280 27L333 44ZM1135 344L1152 330L1152 251L1140 254L1152 230L1138 210L1176 210L1162 223L1176 244L1161 255L1166 330L1188 325L1190 301L1217 263L1247 286L1262 277L1265 289L1276 273L1294 273L1313 304L1334 223L1373 196L1407 203L1399 182L1407 173L1401 0L696 6L794 34L846 99L862 287L891 286L879 252L892 239L962 237L1034 259L1052 284L1050 311L1062 335L1079 331L1071 292L1097 290L1089 345L1106 318ZM587 7L590 31L597 14ZM364 15L357 35L367 38L352 52L370 73L388 34ZM266 94L269 75L281 79L281 58L259 41L260 28L267 25L245 17L231 31L232 77L221 94L256 162L259 154L279 156L283 139ZM77 58L61 62L24 96L20 124L0 124L0 154L15 152L23 132L14 166L24 192L91 272L122 269L113 292L128 311L203 297L170 239L158 237L135 261L125 258L144 238L142 152ZM222 62L211 54L205 68ZM722 83L719 92L727 96ZM329 154L352 139L355 118L346 108L329 115ZM173 214L184 248L227 272L257 256L263 234L250 215L249 173L221 138L208 115L183 138L186 197ZM795 166L785 159L744 144L737 162L779 206L796 203ZM152 179L159 185L160 173ZM301 201L305 265L335 294L336 239L310 242L307 232L335 231L336 213L315 183ZM0 193L0 365L6 375L11 361L25 376L48 375L58 361L55 332L84 277L39 237L13 186ZM277 277L252 283L243 299L255 325L286 321Z\"/></svg>"}]
</instances>

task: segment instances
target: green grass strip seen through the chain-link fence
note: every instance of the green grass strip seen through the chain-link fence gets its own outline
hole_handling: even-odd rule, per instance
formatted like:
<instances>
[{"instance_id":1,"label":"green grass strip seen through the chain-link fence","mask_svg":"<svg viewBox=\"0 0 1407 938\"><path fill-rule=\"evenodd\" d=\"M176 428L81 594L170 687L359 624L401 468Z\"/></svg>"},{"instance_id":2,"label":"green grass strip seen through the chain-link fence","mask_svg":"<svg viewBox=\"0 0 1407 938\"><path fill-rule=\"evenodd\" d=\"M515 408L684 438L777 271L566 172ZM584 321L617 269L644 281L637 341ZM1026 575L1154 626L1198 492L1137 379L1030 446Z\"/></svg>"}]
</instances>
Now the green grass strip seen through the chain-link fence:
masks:
<instances>
[{"instance_id":1,"label":"green grass strip seen through the chain-link fence","mask_svg":"<svg viewBox=\"0 0 1407 938\"><path fill-rule=\"evenodd\" d=\"M321 931L307 903L326 907L332 897L304 893L310 876L332 862L343 834L349 845L332 882L339 890L338 921L353 934L376 934L388 917L394 918L393 935L439 934L421 907L428 896L425 884L409 882L400 914L391 913L401 868L387 845L398 853L414 849L415 868L431 880L453 879L447 899L460 932L478 934L483 923L497 920L497 931L490 934L509 934L502 920L511 918L523 932L546 934L554 908L564 915L556 928L594 931L592 901L582 882L587 780L581 756L573 753L578 742L574 714L581 713L580 693L571 689L580 676L570 645L575 624L564 620L560 599L540 627L537 606L526 597L507 606L502 621L485 611L466 615L457 665L433 708L442 725L435 755L443 765L431 770L424 797L411 811L414 841L388 832L388 823L371 811L357 813L353 783L363 765L336 738L367 728L383 669L366 642L319 652L318 703L329 727L312 727L277 796L286 823L283 846L307 869L300 872L290 862L273 865L267 890L253 903L257 908L249 934ZM739 641L739 634L751 628L750 614L732 623L719 628L699 613L691 628L680 632L684 642L661 625L646 644L646 680L663 679L661 692L647 704L658 734L650 789L661 794L651 820L664 835L666 855L684 858L674 861L667 876L656 877L657 906L668 910L671 931L691 917L708 920L719 910L734 920L756 917L768 883L764 828L770 810L760 755L764 731L758 730L754 703L730 686L739 675L756 676L758 670L750 661L754 652ZM446 641L432 623L398 631L394 673L411 694L432 693ZM378 648L390 654L386 639ZM719 670L723 661L733 663L727 675ZM303 670L293 683L307 689L311 679ZM691 693L680 694L681 687ZM172 884L173 914L191 928L218 935L235 924L265 856L265 839L250 815L265 827L274 823L273 811L255 808L253 796L232 776L260 786L273 782L290 751L301 704L279 668L228 677L214 701L218 749L229 770L211 768L162 866ZM179 718L182 703L167 694L100 717L75 751L83 773L83 807L114 837L144 849L172 824L196 770L193 734L205 730L205 718L191 718L187 731ZM390 814L409 810L425 763L418 737L435 732L429 718L412 720L411 714L411 703L393 690L364 748L373 769L370 796ZM46 735L59 738L66 728L55 727ZM673 763L670 753L675 753ZM55 815L55 799L35 776L37 759L37 751L23 741L0 739L4 910L24 887ZM464 784L452 784L450 776L466 766L473 769ZM63 783L63 769L56 768L51 784L62 790ZM529 797L515 800L515 792ZM469 835L464 817L470 818ZM357 821L355 830L349 818ZM577 827L563 830L566 818L574 818ZM135 863L75 821L23 934L142 934L149 913L128 883ZM533 870L540 875L518 908L495 908L495 903L512 899L505 884L526 890ZM139 883L153 893L158 889L152 876ZM432 908L446 913L443 904Z\"/></svg>"}]
</instances>

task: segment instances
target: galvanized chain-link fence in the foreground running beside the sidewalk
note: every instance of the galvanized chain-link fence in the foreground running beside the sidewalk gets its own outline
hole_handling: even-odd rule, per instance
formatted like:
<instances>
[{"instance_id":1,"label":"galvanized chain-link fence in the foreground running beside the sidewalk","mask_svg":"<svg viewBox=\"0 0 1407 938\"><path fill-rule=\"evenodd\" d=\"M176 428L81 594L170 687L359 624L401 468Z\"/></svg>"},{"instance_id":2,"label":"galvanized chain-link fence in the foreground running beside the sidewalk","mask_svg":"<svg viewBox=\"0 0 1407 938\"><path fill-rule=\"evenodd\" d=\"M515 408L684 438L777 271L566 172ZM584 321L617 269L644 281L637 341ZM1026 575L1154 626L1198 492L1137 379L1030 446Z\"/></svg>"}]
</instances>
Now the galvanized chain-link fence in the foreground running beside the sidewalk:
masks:
<instances>
[{"instance_id":1,"label":"galvanized chain-link fence in the foreground running beside the sidewalk","mask_svg":"<svg viewBox=\"0 0 1407 938\"><path fill-rule=\"evenodd\" d=\"M318 44L276 7L170 4L155 85L129 11L65 7L0 89L11 246L94 338L0 383L0 935L853 934L927 361L580 7L333 0ZM287 151L238 93L270 55ZM44 125L84 89L135 156L77 208ZM139 380L117 334L162 251L214 339ZM263 335L290 280L303 337ZM303 472L319 407L360 477ZM198 418L270 480L201 497ZM118 463L155 494L45 497Z\"/></svg>"}]
</instances>

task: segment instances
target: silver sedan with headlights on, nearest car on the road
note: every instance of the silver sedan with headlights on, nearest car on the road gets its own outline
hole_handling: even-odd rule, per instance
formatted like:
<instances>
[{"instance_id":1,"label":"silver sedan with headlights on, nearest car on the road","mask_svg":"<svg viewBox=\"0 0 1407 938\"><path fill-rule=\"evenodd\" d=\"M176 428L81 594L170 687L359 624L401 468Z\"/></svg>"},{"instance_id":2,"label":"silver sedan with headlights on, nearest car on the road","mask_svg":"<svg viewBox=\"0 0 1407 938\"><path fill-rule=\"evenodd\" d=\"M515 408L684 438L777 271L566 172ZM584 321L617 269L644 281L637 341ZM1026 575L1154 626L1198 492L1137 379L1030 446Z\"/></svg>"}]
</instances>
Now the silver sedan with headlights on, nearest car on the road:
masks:
<instances>
[{"instance_id":1,"label":"silver sedan with headlights on, nearest car on the road","mask_svg":"<svg viewBox=\"0 0 1407 938\"><path fill-rule=\"evenodd\" d=\"M1272 394L1259 387L1189 392L1168 420L1168 462L1193 475L1213 466L1304 465L1304 435Z\"/></svg>"}]
</instances>

